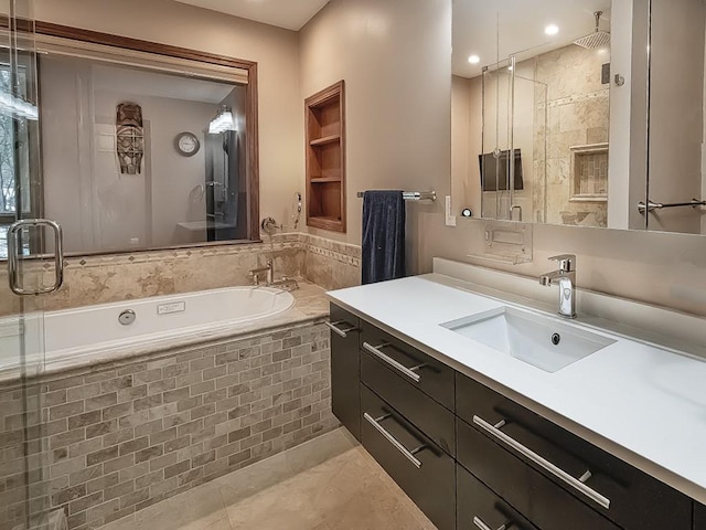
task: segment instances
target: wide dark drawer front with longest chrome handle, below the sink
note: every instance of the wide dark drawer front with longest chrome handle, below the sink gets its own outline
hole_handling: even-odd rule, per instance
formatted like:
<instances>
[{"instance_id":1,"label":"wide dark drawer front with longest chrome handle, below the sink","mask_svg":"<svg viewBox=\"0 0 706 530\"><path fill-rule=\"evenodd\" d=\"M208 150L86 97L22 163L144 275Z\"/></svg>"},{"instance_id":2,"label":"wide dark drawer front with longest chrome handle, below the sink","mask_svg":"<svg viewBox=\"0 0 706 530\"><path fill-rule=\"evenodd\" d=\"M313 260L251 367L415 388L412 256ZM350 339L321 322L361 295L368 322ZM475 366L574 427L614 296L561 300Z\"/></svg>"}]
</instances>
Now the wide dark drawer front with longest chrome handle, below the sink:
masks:
<instances>
[{"instance_id":1,"label":"wide dark drawer front with longest chrome handle, below the sink","mask_svg":"<svg viewBox=\"0 0 706 530\"><path fill-rule=\"evenodd\" d=\"M543 529L689 528L688 497L460 373L457 414L459 463Z\"/></svg>"}]
</instances>

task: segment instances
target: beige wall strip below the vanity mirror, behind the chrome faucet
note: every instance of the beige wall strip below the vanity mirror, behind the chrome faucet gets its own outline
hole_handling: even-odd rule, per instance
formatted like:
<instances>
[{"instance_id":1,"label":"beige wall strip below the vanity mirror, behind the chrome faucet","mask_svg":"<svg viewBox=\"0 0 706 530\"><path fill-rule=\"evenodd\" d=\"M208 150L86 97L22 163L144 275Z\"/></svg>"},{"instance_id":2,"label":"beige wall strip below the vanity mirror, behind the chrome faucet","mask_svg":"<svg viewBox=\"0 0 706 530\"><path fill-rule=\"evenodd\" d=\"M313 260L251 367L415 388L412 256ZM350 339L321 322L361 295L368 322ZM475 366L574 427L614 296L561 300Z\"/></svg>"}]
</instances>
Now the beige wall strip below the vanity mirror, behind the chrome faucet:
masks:
<instances>
[{"instance_id":1,"label":"beige wall strip below the vanity mirror, behind the chrome faucet","mask_svg":"<svg viewBox=\"0 0 706 530\"><path fill-rule=\"evenodd\" d=\"M503 265L469 256L482 252L484 226L467 221L447 229L442 215L426 216L419 268L430 271L431 258L442 256L538 277L556 267L549 256L573 253L580 288L706 317L704 236L536 224L533 262Z\"/></svg>"}]
</instances>

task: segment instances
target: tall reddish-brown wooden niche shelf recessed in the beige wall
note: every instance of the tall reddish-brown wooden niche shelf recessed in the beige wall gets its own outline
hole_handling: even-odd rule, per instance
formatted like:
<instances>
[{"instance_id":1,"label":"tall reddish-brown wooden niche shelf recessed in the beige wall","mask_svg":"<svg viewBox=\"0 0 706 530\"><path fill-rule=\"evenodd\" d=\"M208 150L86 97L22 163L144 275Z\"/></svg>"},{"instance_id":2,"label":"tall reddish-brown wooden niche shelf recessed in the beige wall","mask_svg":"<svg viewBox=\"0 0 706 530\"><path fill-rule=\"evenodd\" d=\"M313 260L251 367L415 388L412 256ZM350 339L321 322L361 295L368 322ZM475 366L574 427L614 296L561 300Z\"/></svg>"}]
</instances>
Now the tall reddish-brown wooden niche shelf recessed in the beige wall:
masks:
<instances>
[{"instance_id":1,"label":"tall reddish-brown wooden niche shelf recessed in the beige wall","mask_svg":"<svg viewBox=\"0 0 706 530\"><path fill-rule=\"evenodd\" d=\"M307 225L345 232L345 99L340 81L304 100Z\"/></svg>"}]
</instances>

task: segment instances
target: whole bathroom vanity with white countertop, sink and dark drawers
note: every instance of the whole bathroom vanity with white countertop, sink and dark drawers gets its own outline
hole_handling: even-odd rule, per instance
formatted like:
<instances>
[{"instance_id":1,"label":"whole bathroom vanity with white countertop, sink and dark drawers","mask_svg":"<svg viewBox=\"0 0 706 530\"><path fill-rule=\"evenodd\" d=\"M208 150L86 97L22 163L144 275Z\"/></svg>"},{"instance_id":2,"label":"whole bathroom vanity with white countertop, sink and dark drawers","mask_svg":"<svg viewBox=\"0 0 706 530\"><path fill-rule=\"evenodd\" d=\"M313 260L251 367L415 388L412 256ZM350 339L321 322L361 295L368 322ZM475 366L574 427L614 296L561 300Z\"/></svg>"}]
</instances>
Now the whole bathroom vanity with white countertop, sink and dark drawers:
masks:
<instances>
[{"instance_id":1,"label":"whole bathroom vanity with white countertop, sink and dark drawers","mask_svg":"<svg viewBox=\"0 0 706 530\"><path fill-rule=\"evenodd\" d=\"M439 269L329 296L333 413L440 530L706 529L703 359Z\"/></svg>"}]
</instances>

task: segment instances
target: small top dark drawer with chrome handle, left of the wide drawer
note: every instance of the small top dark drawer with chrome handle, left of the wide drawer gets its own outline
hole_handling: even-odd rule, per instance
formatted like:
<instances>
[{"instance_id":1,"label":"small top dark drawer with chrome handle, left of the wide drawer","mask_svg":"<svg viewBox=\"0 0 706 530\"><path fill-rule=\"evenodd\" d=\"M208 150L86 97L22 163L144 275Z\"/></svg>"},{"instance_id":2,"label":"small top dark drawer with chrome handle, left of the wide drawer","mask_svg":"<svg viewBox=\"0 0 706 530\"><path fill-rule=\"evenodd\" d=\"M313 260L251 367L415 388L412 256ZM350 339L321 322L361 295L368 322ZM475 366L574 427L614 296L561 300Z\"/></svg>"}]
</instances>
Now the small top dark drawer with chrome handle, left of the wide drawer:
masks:
<instances>
[{"instance_id":1,"label":"small top dark drawer with chrome handle, left of the wide drawer","mask_svg":"<svg viewBox=\"0 0 706 530\"><path fill-rule=\"evenodd\" d=\"M363 350L453 412L456 396L451 368L368 322L361 321L361 327Z\"/></svg>"}]
</instances>

